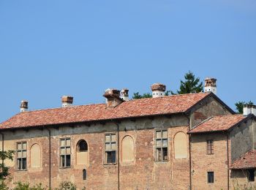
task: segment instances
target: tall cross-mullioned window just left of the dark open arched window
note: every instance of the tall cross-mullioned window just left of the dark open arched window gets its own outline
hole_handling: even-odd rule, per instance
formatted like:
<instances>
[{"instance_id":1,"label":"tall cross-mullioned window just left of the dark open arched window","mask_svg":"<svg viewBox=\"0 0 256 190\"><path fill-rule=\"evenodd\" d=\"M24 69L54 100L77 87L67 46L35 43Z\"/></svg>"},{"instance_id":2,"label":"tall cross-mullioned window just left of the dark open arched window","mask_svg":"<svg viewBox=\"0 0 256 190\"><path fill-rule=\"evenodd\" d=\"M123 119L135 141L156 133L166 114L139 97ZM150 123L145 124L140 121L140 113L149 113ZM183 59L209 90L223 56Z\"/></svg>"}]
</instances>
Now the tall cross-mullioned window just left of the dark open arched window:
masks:
<instances>
[{"instance_id":1,"label":"tall cross-mullioned window just left of the dark open arched window","mask_svg":"<svg viewBox=\"0 0 256 190\"><path fill-rule=\"evenodd\" d=\"M61 153L60 164L61 167L70 167L70 138L61 139Z\"/></svg>"}]
</instances>

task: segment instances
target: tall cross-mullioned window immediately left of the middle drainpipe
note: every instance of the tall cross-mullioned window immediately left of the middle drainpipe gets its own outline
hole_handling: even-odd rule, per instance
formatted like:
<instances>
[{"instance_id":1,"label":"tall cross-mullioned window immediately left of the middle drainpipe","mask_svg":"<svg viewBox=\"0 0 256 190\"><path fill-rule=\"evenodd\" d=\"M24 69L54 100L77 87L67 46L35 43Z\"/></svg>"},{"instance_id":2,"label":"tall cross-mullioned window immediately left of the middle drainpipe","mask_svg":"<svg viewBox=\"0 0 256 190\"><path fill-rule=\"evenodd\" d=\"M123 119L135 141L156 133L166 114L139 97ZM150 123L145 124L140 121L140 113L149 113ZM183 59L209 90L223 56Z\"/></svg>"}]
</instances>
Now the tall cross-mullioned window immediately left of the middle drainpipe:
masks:
<instances>
[{"instance_id":1,"label":"tall cross-mullioned window immediately left of the middle drainpipe","mask_svg":"<svg viewBox=\"0 0 256 190\"><path fill-rule=\"evenodd\" d=\"M116 134L105 134L105 163L116 163Z\"/></svg>"}]
</instances>

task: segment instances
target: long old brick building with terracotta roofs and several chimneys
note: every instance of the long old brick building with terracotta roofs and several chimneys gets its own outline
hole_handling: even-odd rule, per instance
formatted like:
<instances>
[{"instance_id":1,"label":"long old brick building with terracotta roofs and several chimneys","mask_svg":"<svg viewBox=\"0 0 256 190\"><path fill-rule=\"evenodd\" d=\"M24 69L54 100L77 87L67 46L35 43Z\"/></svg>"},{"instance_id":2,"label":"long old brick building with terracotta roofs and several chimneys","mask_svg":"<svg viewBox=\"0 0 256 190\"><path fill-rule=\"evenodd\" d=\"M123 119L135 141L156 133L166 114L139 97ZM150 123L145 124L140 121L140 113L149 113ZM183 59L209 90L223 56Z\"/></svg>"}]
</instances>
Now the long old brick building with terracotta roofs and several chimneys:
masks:
<instances>
[{"instance_id":1,"label":"long old brick building with terracotta roofs and several chimneys","mask_svg":"<svg viewBox=\"0 0 256 190\"><path fill-rule=\"evenodd\" d=\"M254 181L255 107L234 115L217 96L216 80L205 92L129 100L128 90L105 91L105 104L20 113L0 124L1 150L13 183L54 188L70 180L79 189L233 189ZM250 114L252 113L252 114ZM250 182L251 183L251 182Z\"/></svg>"}]
</instances>

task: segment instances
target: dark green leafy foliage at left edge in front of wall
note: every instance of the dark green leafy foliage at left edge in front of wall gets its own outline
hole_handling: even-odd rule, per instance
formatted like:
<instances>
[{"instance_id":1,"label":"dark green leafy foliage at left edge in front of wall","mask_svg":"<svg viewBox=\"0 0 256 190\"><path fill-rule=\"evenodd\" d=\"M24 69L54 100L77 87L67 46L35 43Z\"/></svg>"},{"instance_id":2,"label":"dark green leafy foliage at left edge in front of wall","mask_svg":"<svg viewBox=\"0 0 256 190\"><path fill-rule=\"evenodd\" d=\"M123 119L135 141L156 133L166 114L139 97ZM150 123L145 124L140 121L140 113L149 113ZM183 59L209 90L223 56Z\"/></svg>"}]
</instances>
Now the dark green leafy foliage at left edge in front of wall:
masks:
<instances>
[{"instance_id":1,"label":"dark green leafy foliage at left edge in front of wall","mask_svg":"<svg viewBox=\"0 0 256 190\"><path fill-rule=\"evenodd\" d=\"M13 160L13 154L15 151L0 151L0 180L4 182L8 177L10 177L9 167L4 164L4 160Z\"/></svg>"}]
</instances>

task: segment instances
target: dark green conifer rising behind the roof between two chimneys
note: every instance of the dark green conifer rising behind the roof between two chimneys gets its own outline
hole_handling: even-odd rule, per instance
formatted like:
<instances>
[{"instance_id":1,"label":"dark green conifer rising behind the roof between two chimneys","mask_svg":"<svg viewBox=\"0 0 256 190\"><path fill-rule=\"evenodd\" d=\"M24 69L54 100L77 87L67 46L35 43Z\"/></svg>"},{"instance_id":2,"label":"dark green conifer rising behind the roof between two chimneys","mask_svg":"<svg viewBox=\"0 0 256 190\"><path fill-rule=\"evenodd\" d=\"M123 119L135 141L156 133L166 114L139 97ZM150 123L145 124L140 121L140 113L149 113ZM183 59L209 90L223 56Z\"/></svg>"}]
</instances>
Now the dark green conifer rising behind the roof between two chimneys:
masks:
<instances>
[{"instance_id":1,"label":"dark green conifer rising behind the roof between two chimneys","mask_svg":"<svg viewBox=\"0 0 256 190\"><path fill-rule=\"evenodd\" d=\"M195 75L189 71L184 75L185 81L181 80L181 86L177 93L173 93L170 91L171 94L189 94L193 92L200 92L203 91L203 82L200 82L199 77L195 77Z\"/></svg>"}]
</instances>

